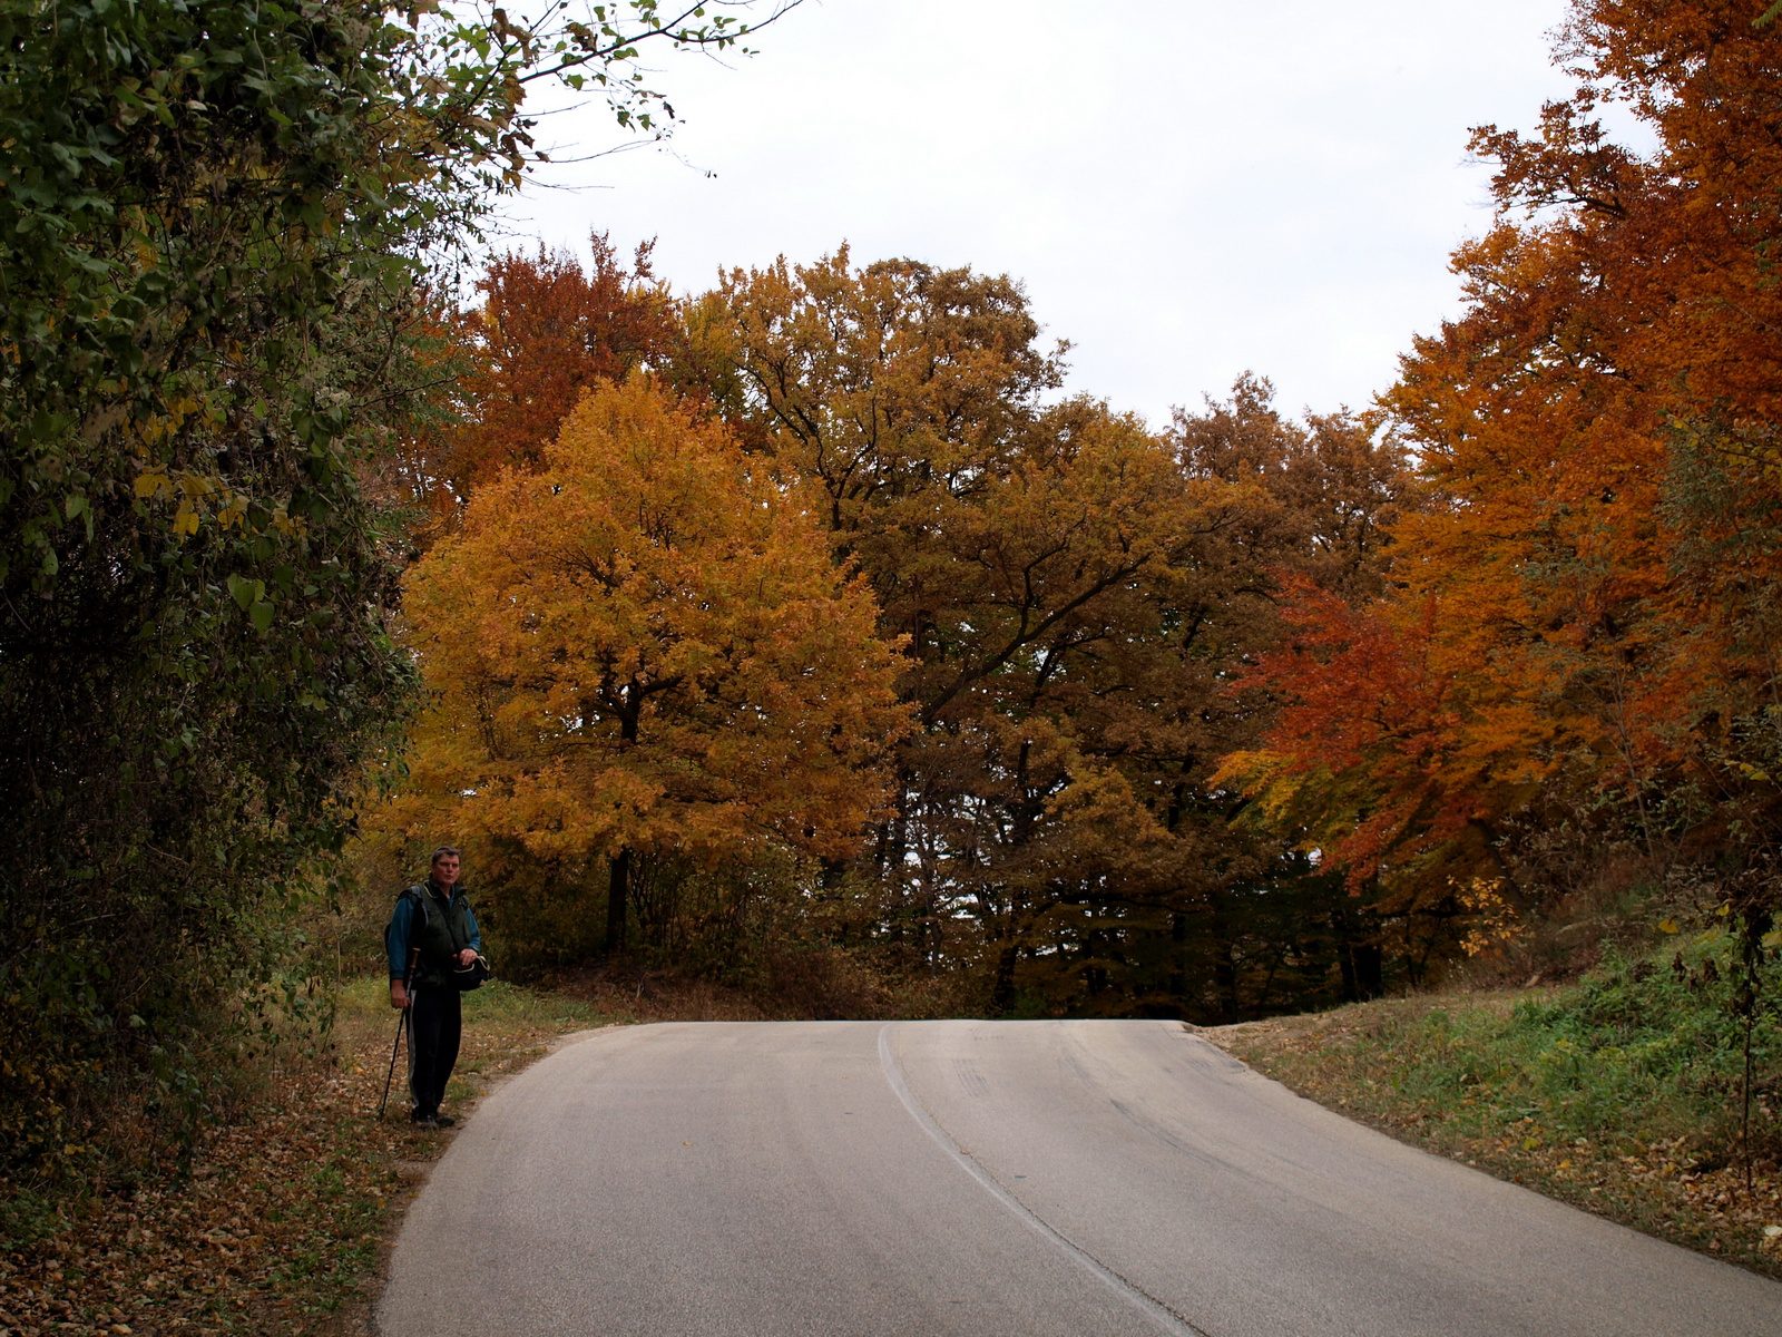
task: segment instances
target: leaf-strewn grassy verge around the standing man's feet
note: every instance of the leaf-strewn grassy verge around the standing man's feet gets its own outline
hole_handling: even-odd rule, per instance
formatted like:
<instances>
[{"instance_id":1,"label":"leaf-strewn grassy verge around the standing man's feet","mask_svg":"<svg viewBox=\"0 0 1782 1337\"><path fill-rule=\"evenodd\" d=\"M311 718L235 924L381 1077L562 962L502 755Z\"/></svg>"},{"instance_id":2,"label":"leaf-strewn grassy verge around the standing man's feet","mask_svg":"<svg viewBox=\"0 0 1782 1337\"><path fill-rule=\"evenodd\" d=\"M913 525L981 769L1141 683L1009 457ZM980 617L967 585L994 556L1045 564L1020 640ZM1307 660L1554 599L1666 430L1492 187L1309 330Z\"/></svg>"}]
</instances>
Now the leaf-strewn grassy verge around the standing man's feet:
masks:
<instances>
[{"instance_id":1,"label":"leaf-strewn grassy verge around the standing man's feet","mask_svg":"<svg viewBox=\"0 0 1782 1337\"><path fill-rule=\"evenodd\" d=\"M467 995L447 1107L561 1034L649 1014L625 1002L511 984ZM394 1025L381 980L347 984L331 1061L273 1073L185 1177L53 1196L0 1184L0 1337L369 1332L401 1207L451 1136L410 1130L401 1071L372 1118Z\"/></svg>"}]
</instances>

